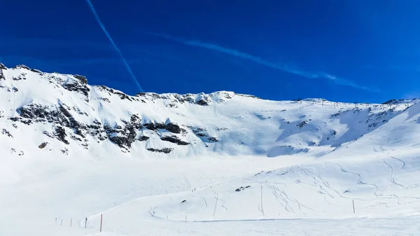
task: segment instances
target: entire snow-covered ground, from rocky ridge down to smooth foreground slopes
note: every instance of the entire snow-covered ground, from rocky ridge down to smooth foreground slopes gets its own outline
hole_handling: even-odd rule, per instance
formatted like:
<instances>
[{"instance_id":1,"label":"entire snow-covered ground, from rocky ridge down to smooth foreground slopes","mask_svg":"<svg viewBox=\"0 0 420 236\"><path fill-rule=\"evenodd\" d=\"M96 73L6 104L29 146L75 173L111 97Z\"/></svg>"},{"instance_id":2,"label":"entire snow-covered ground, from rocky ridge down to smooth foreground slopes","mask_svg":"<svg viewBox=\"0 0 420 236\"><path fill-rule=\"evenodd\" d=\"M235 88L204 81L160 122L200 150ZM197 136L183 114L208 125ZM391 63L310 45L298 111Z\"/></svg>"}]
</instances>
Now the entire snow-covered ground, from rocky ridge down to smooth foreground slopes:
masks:
<instances>
[{"instance_id":1,"label":"entire snow-covered ground, from rocky ridge down to smooth foreground slopes","mask_svg":"<svg viewBox=\"0 0 420 236\"><path fill-rule=\"evenodd\" d=\"M129 96L0 64L0 101L0 235L420 235L416 99Z\"/></svg>"}]
</instances>

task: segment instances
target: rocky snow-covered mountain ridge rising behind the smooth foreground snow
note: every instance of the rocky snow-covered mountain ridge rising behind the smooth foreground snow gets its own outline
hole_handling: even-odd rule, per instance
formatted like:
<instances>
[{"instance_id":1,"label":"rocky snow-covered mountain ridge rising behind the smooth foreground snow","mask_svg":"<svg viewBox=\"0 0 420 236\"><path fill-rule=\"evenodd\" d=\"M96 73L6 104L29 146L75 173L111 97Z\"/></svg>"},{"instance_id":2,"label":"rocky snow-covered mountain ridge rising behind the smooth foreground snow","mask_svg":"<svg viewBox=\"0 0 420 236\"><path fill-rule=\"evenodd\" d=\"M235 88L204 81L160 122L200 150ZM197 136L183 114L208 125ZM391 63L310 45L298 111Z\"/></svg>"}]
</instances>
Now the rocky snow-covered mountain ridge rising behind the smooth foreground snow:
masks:
<instances>
[{"instance_id":1,"label":"rocky snow-covered mountain ridge rising behind the smooth foreground snow","mask_svg":"<svg viewBox=\"0 0 420 236\"><path fill-rule=\"evenodd\" d=\"M139 93L83 76L0 66L3 153L131 155L323 155L376 130L411 106L323 99L274 102L235 92ZM25 148L17 145L25 140Z\"/></svg>"}]
</instances>

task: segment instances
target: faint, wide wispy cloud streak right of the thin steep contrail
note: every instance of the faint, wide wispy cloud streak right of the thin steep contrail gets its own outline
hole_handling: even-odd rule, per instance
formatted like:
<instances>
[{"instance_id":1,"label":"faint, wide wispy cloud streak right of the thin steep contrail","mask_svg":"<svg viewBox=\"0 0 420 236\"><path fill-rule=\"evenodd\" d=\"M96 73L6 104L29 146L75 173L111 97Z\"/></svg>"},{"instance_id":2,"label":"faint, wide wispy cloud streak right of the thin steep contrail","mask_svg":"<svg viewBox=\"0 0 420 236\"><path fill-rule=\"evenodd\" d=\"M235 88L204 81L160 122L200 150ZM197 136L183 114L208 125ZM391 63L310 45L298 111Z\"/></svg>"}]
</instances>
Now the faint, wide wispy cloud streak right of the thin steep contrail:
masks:
<instances>
[{"instance_id":1,"label":"faint, wide wispy cloud streak right of the thin steep contrail","mask_svg":"<svg viewBox=\"0 0 420 236\"><path fill-rule=\"evenodd\" d=\"M298 69L295 67L290 67L288 64L279 64L279 63L273 63L273 62L268 62L266 60L263 60L260 57L254 56L254 55L250 55L248 53L243 53L239 50L235 50L232 48L225 48L222 46L218 46L216 44L213 43L204 43L202 41L196 41L196 40L187 40L187 39L182 39L179 37L174 37L174 36L170 36L167 34L157 34L157 33L151 33L151 32L147 32L144 34L150 35L150 36L158 36L160 38L163 39L167 39L169 41L174 41L177 43L182 43L188 46L194 46L194 47L199 47L199 48L207 48L209 50L216 50L220 53L225 53L228 55L232 55L233 57L239 57L241 59L245 59L245 60L250 60L252 62L255 62L257 64L261 64L265 67L270 67L272 69L278 69L280 71L284 71L284 72L288 72L290 74L295 74L297 76L302 76L304 78L319 78L319 79L327 79L332 81L333 83L336 83L337 85L345 85L345 86L349 86L349 87L353 87L353 88L358 88L360 90L369 90L372 92L379 92L379 90L374 90L372 88L368 88L366 86L363 85L358 85L357 83L354 83L353 81L350 81L346 78L341 78L338 76L334 76L332 74L328 74L325 72L312 72L312 71L304 71L302 69Z\"/></svg>"}]
</instances>

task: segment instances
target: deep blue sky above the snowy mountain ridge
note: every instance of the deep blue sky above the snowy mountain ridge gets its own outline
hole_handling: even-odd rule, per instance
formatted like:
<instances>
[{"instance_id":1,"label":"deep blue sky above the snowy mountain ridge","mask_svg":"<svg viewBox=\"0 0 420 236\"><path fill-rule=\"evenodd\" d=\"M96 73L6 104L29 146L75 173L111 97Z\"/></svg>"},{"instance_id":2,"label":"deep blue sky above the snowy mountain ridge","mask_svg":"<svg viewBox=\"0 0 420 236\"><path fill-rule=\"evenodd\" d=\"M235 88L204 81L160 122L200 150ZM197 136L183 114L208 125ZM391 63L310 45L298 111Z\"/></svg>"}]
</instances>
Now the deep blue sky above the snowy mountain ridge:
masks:
<instances>
[{"instance_id":1,"label":"deep blue sky above the snowy mountain ridge","mask_svg":"<svg viewBox=\"0 0 420 236\"><path fill-rule=\"evenodd\" d=\"M420 97L420 1L91 0L146 92ZM140 88L86 0L1 4L0 62Z\"/></svg>"}]
</instances>

